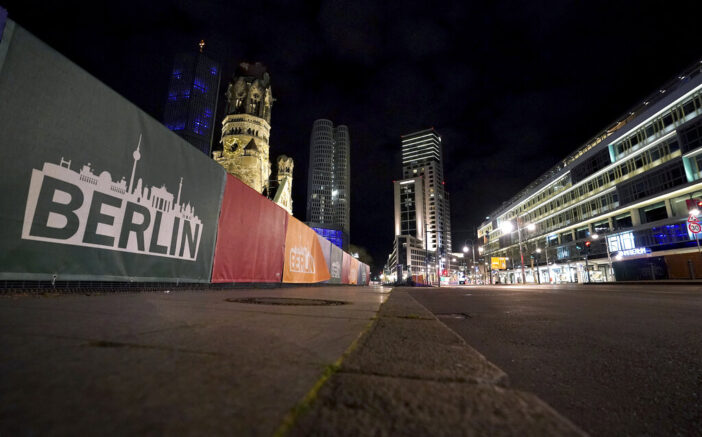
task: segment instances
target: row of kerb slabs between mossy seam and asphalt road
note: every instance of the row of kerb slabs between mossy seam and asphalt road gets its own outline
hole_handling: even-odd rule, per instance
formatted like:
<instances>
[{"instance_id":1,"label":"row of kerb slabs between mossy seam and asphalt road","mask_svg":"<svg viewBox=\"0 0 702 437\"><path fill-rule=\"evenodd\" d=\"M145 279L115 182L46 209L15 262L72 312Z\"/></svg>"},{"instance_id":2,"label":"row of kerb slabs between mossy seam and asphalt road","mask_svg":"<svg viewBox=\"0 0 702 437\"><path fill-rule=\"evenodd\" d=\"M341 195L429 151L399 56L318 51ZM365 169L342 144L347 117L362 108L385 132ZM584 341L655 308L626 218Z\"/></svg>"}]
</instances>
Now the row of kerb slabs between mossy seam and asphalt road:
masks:
<instances>
[{"instance_id":1,"label":"row of kerb slabs between mossy seam and asphalt road","mask_svg":"<svg viewBox=\"0 0 702 437\"><path fill-rule=\"evenodd\" d=\"M447 328L406 289L314 396L289 436L582 436Z\"/></svg>"}]
</instances>

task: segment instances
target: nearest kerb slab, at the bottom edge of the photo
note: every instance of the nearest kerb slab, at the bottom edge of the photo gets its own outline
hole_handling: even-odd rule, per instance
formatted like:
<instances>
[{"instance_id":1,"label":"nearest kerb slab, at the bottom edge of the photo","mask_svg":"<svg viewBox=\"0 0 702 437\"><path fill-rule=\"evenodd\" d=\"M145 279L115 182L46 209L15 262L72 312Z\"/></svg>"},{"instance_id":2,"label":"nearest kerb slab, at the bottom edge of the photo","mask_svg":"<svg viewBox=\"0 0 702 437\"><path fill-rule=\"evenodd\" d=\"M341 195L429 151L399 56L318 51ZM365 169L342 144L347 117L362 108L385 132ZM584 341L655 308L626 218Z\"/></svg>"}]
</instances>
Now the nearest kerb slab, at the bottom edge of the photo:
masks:
<instances>
[{"instance_id":1,"label":"nearest kerb slab, at the bottom edge of the photo","mask_svg":"<svg viewBox=\"0 0 702 437\"><path fill-rule=\"evenodd\" d=\"M582 436L536 396L465 384L340 372L292 436Z\"/></svg>"}]
</instances>

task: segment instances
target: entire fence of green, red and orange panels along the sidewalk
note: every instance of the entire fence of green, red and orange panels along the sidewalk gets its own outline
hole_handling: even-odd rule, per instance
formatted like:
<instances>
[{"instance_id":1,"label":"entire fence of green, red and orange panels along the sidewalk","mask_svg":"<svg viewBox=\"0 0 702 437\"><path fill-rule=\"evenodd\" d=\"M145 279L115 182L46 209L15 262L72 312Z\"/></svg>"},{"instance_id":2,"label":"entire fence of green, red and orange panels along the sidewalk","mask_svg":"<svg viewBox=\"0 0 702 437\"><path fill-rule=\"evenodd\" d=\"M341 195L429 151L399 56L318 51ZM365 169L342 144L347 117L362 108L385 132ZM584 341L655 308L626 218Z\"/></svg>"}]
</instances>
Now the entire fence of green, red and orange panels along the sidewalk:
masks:
<instances>
[{"instance_id":1,"label":"entire fence of green, red and orange panels along the sidewalk","mask_svg":"<svg viewBox=\"0 0 702 437\"><path fill-rule=\"evenodd\" d=\"M367 265L0 19L0 279L368 283Z\"/></svg>"}]
</instances>

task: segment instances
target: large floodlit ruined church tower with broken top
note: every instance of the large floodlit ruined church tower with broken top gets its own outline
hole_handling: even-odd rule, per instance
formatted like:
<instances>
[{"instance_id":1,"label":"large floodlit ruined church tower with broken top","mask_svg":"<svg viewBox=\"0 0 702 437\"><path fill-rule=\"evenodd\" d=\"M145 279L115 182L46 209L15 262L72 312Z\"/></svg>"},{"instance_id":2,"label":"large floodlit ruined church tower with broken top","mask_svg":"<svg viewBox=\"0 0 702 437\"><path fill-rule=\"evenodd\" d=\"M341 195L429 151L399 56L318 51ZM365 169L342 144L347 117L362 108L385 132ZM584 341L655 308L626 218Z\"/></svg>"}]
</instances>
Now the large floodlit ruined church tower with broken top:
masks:
<instances>
[{"instance_id":1,"label":"large floodlit ruined church tower with broken top","mask_svg":"<svg viewBox=\"0 0 702 437\"><path fill-rule=\"evenodd\" d=\"M259 62L239 64L226 96L222 151L214 152L214 159L249 187L270 196L268 140L273 95L266 67Z\"/></svg>"}]
</instances>

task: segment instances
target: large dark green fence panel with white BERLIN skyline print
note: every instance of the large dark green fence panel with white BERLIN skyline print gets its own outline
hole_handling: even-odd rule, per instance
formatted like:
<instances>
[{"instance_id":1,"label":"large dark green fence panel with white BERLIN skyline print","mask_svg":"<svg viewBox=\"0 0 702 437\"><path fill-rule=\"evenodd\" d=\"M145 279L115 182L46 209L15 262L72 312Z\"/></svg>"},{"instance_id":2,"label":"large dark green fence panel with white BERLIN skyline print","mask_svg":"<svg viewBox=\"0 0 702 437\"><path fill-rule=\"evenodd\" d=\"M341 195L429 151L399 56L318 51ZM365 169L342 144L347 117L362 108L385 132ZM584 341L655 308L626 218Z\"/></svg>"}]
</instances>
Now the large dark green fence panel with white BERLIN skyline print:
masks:
<instances>
[{"instance_id":1,"label":"large dark green fence panel with white BERLIN skyline print","mask_svg":"<svg viewBox=\"0 0 702 437\"><path fill-rule=\"evenodd\" d=\"M209 282L221 167L19 26L0 102L0 278Z\"/></svg>"}]
</instances>

